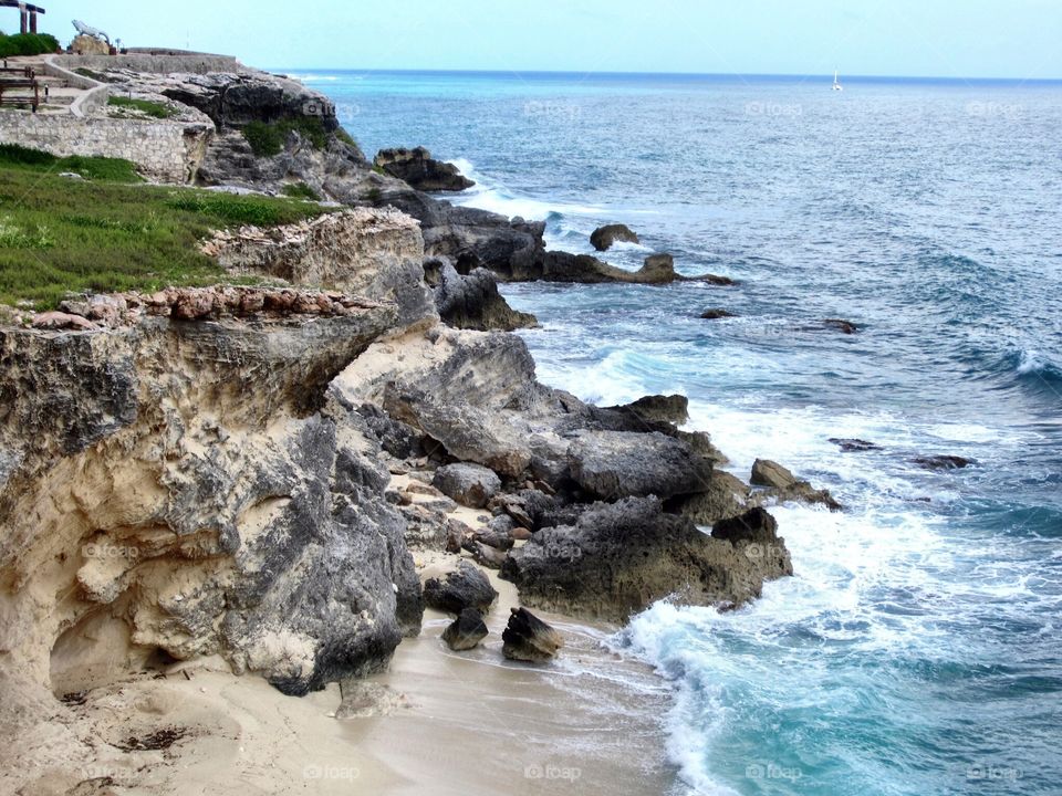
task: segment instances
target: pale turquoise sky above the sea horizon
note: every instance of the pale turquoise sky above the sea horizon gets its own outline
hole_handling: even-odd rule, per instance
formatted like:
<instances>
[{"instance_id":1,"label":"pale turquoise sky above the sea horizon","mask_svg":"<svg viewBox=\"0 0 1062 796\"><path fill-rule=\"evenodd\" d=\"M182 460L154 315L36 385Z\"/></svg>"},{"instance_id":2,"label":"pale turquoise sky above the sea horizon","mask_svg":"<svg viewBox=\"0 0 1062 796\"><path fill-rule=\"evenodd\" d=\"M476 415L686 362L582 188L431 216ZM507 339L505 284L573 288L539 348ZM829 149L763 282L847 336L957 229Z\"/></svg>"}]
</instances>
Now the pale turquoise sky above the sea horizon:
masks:
<instances>
[{"instance_id":1,"label":"pale turquoise sky above the sea horizon","mask_svg":"<svg viewBox=\"0 0 1062 796\"><path fill-rule=\"evenodd\" d=\"M1062 0L43 0L127 46L269 69L1062 78ZM18 11L0 9L0 30Z\"/></svg>"}]
</instances>

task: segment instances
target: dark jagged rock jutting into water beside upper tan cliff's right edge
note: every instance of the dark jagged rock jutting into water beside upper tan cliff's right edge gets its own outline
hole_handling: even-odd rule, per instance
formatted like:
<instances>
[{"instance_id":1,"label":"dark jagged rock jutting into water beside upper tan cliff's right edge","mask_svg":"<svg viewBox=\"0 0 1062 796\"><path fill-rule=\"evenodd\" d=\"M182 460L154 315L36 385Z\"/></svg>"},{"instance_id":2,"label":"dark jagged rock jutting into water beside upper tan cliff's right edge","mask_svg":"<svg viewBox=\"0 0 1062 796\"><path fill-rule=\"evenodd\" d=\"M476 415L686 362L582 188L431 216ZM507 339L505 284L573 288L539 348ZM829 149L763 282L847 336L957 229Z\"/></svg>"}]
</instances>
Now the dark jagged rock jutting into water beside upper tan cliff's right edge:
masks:
<instances>
[{"instance_id":1,"label":"dark jagged rock jutting into water beside upper tan cliff's right edge","mask_svg":"<svg viewBox=\"0 0 1062 796\"><path fill-rule=\"evenodd\" d=\"M538 325L534 315L509 306L498 292L498 280L487 269L478 268L462 276L448 260L429 260L425 271L437 283L435 305L439 316L455 328L512 332Z\"/></svg>"}]
</instances>

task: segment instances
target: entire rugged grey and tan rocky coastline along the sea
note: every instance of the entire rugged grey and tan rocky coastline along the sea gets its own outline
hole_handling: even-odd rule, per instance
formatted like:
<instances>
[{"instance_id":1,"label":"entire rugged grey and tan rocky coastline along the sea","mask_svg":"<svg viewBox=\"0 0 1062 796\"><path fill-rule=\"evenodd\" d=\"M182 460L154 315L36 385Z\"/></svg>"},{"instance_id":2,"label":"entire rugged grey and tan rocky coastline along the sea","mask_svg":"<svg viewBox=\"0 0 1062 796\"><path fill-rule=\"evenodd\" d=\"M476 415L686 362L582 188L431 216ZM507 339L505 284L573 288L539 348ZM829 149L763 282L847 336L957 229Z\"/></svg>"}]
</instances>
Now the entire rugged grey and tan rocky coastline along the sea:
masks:
<instances>
[{"instance_id":1,"label":"entire rugged grey and tan rocky coastline along the sea","mask_svg":"<svg viewBox=\"0 0 1062 796\"><path fill-rule=\"evenodd\" d=\"M103 726L169 748L146 730L162 708L108 715L131 681L148 703L150 679L195 663L289 696L356 690L426 605L454 654L498 635L493 606L504 657L541 666L569 640L541 617L739 607L793 572L764 506L841 509L774 462L749 483L723 470L680 396L601 408L538 381L510 334L537 321L499 281L691 279L669 255L631 273L548 251L539 222L419 190L464 186L425 150L371 164L293 81L105 77L209 117L201 185L342 207L202 242L260 285L72 296L0 328L0 790L114 785L86 775L131 754ZM306 118L271 156L243 134ZM497 603L499 577L519 605ZM175 765L137 761L123 786Z\"/></svg>"}]
</instances>

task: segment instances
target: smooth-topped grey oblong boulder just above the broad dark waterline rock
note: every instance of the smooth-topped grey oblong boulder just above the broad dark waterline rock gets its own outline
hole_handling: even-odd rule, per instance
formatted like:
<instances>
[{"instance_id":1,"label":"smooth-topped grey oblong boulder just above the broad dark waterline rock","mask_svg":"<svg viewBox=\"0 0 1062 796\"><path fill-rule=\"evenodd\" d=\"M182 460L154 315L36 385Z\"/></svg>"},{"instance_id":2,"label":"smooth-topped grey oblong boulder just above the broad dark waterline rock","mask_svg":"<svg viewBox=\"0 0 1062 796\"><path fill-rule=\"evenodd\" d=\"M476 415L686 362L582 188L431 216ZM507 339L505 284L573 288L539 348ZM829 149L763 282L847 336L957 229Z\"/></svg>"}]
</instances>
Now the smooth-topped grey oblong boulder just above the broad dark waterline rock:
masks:
<instances>
[{"instance_id":1,"label":"smooth-topped grey oblong boulder just above the broad dark waterline rock","mask_svg":"<svg viewBox=\"0 0 1062 796\"><path fill-rule=\"evenodd\" d=\"M708 488L711 462L662 433L582 431L569 448L572 479L598 499L667 499Z\"/></svg>"}]
</instances>

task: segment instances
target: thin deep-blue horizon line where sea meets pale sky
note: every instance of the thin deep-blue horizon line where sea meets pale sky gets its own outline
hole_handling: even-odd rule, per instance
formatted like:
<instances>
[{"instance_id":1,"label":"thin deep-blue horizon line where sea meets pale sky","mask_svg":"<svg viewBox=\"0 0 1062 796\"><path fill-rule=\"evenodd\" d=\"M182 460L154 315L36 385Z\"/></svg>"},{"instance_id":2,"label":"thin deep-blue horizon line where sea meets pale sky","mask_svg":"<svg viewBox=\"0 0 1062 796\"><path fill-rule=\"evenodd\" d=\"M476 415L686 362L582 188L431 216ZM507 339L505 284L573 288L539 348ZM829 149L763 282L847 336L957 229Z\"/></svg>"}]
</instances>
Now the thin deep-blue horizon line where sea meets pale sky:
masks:
<instances>
[{"instance_id":1,"label":"thin deep-blue horizon line where sea meets pale sky","mask_svg":"<svg viewBox=\"0 0 1062 796\"><path fill-rule=\"evenodd\" d=\"M826 73L790 73L790 72L597 72L585 70L506 70L506 69L391 69L391 67L352 67L352 66L271 66L269 72L341 72L351 73L381 73L381 74L450 74L450 75L583 75L587 77L735 77L735 78L779 78L789 80L809 80L822 78L833 80L833 75ZM841 75L842 82L873 82L873 81L946 81L954 83L1062 83L1062 77L998 77L998 76L945 76L945 75L874 75L874 74L850 74Z\"/></svg>"}]
</instances>

